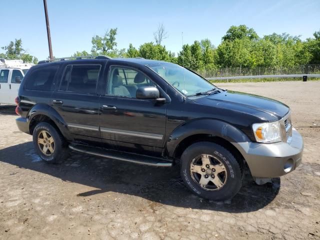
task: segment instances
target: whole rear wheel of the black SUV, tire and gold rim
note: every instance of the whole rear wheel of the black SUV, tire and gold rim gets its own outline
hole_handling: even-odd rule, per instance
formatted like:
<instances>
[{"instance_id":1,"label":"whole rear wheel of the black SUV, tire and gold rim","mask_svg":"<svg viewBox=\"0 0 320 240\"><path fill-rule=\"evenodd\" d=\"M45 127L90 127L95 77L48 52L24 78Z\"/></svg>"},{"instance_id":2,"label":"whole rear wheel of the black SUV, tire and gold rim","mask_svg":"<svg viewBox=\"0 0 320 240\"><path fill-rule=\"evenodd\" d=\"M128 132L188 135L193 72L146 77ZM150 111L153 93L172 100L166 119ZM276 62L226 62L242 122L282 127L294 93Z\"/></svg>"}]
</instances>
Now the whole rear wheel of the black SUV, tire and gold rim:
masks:
<instances>
[{"instance_id":1,"label":"whole rear wheel of the black SUV, tire and gold rim","mask_svg":"<svg viewBox=\"0 0 320 240\"><path fill-rule=\"evenodd\" d=\"M67 147L61 133L47 122L38 123L33 130L33 145L42 160L58 163L67 156Z\"/></svg>"}]
</instances>

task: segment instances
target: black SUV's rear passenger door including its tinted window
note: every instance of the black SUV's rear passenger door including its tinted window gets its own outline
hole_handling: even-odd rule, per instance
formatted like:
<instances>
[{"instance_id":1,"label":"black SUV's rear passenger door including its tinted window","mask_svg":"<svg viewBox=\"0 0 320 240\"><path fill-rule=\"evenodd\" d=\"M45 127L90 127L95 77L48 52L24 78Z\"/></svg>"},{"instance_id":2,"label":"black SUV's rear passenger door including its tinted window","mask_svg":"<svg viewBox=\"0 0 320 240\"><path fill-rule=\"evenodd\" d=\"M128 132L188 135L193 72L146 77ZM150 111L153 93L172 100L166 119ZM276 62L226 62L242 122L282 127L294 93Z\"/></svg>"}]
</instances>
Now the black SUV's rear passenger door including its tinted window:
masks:
<instances>
[{"instance_id":1,"label":"black SUV's rear passenger door including its tinted window","mask_svg":"<svg viewBox=\"0 0 320 240\"><path fill-rule=\"evenodd\" d=\"M102 61L64 65L51 95L51 106L62 116L75 139L98 141L100 136L96 85L102 68Z\"/></svg>"}]
</instances>

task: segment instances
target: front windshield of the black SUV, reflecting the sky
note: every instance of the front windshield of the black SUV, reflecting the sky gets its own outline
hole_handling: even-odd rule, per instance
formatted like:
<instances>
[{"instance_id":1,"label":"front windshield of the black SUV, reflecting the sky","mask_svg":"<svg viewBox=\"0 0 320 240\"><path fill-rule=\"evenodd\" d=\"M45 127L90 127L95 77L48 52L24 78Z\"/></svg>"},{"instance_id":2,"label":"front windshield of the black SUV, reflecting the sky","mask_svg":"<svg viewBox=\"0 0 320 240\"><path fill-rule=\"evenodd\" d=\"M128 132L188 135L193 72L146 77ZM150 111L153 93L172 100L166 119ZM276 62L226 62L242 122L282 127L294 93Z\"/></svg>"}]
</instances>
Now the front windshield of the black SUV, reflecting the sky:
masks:
<instances>
[{"instance_id":1,"label":"front windshield of the black SUV, reflecting the sky","mask_svg":"<svg viewBox=\"0 0 320 240\"><path fill-rule=\"evenodd\" d=\"M147 66L185 96L206 92L215 87L192 71L174 63L160 62Z\"/></svg>"}]
</instances>

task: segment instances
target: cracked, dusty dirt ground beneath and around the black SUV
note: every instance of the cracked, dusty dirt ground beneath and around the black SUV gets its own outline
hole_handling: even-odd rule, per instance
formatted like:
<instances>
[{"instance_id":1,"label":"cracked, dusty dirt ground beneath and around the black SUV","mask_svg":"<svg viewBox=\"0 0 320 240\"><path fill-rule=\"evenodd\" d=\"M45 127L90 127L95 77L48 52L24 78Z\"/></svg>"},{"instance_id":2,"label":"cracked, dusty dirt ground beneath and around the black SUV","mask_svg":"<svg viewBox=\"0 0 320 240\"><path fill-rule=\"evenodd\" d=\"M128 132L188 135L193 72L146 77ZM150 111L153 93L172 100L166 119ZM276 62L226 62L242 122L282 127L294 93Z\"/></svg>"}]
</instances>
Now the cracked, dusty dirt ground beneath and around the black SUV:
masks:
<instances>
[{"instance_id":1,"label":"cracked, dusty dirt ground beneath and around the black SUV","mask_svg":"<svg viewBox=\"0 0 320 240\"><path fill-rule=\"evenodd\" d=\"M302 164L230 201L183 185L178 166L150 167L71 152L60 165L34 153L14 107L0 106L0 239L320 239L320 81L217 84L291 107Z\"/></svg>"}]
</instances>

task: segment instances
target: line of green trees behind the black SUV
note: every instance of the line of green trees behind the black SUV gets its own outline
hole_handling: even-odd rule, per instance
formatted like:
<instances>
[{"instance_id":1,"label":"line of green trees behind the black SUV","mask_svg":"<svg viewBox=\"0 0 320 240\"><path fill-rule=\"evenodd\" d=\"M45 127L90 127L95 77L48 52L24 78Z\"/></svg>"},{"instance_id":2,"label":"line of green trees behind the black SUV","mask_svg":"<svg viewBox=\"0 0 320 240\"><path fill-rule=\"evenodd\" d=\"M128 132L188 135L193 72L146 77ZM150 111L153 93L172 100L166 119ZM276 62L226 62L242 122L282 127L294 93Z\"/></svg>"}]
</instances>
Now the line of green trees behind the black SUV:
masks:
<instances>
[{"instance_id":1,"label":"line of green trees behind the black SUV","mask_svg":"<svg viewBox=\"0 0 320 240\"><path fill-rule=\"evenodd\" d=\"M95 35L91 39L90 52L76 51L72 56L143 57L178 63L195 71L210 71L221 67L290 67L320 63L320 30L315 31L313 37L301 40L300 35L287 33L260 37L253 28L246 25L230 26L218 46L214 46L208 38L195 40L192 44L183 44L177 55L162 44L168 37L163 24L159 24L153 33L154 42L145 42L137 48L130 43L128 48L118 49L116 34L117 28L111 28L103 35ZM2 49L5 53L0 53L0 58L37 61L24 52L21 39L11 41Z\"/></svg>"}]
</instances>

